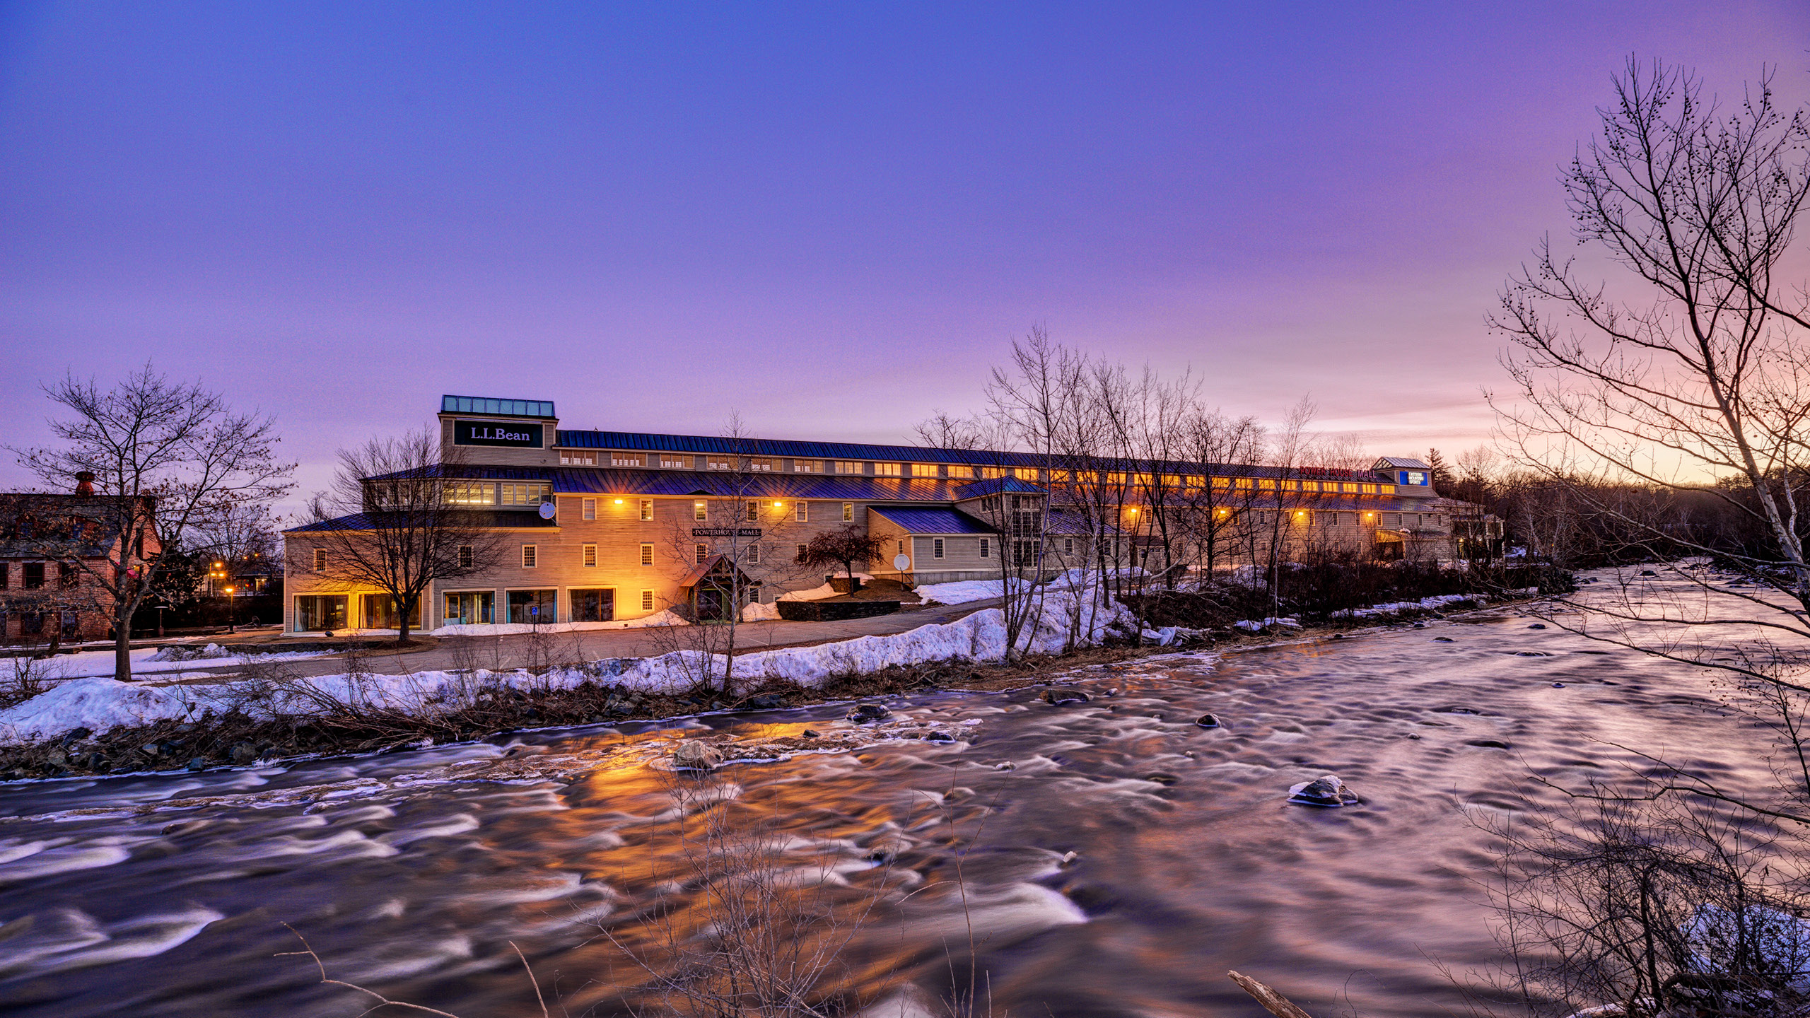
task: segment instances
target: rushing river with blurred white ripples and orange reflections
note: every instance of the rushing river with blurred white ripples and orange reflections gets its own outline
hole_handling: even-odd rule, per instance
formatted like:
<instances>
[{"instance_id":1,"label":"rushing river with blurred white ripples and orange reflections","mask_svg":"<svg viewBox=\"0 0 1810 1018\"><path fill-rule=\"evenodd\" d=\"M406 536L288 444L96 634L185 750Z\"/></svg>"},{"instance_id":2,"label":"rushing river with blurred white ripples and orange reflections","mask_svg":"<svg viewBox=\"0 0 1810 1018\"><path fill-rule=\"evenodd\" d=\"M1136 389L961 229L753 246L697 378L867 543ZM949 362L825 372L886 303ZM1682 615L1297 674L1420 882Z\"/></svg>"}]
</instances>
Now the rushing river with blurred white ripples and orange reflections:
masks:
<instances>
[{"instance_id":1,"label":"rushing river with blurred white ripples and orange reflections","mask_svg":"<svg viewBox=\"0 0 1810 1018\"><path fill-rule=\"evenodd\" d=\"M1765 772L1761 735L1700 676L1529 623L1088 668L1064 681L1119 694L1082 705L1052 706L1041 688L901 697L894 712L963 741L735 764L719 793L776 802L796 844L845 859L851 889L930 888L912 898L919 922L871 915L860 951L874 987L891 975L936 993L950 936L965 942L972 922L994 1007L1014 1014L1254 1014L1227 969L1316 1014L1439 1014L1461 994L1430 958L1459 976L1497 960L1475 819L1535 795L1529 770L1613 779L1620 743L1734 784ZM1202 712L1225 725L1195 726ZM684 725L838 732L840 715ZM319 985L308 958L273 956L295 949L290 924L335 978L467 1018L532 1013L514 942L583 1013L626 975L612 976L621 958L599 929L630 936L644 906L693 893L670 882L684 875L661 833L673 775L637 754L673 734L588 728L514 750L0 786L0 1005L364 1011ZM1285 802L1327 772L1363 804ZM972 793L945 801L952 788ZM863 871L887 831L910 848ZM956 848L967 913L938 893Z\"/></svg>"}]
</instances>

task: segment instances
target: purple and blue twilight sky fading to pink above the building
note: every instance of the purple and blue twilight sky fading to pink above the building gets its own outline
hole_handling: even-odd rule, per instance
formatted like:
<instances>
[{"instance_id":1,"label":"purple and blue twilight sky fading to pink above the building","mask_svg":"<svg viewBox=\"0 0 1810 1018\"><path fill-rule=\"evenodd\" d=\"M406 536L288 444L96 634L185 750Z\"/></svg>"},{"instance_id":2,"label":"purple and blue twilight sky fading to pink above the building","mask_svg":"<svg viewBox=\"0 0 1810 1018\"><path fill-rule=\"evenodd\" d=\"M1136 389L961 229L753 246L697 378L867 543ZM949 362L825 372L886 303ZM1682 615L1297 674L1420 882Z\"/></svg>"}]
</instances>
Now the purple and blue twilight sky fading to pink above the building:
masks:
<instances>
[{"instance_id":1,"label":"purple and blue twilight sky fading to pink above the building","mask_svg":"<svg viewBox=\"0 0 1810 1018\"><path fill-rule=\"evenodd\" d=\"M1039 322L1452 453L1629 53L1797 105L1810 5L5 4L0 424L152 357L304 489L440 393L898 442Z\"/></svg>"}]
</instances>

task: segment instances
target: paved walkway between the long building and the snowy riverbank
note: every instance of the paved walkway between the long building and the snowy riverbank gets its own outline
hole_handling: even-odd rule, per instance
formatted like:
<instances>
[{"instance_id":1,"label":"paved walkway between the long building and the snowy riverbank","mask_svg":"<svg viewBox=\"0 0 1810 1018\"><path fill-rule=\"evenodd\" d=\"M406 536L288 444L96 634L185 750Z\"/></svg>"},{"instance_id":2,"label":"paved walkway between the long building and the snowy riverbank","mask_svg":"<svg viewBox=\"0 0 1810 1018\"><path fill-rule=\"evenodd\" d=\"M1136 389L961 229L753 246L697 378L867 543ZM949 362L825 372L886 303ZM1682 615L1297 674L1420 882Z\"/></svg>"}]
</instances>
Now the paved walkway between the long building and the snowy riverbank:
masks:
<instances>
[{"instance_id":1,"label":"paved walkway between the long building and the snowy riverbank","mask_svg":"<svg viewBox=\"0 0 1810 1018\"><path fill-rule=\"evenodd\" d=\"M773 647L796 647L802 643L829 643L834 639L853 639L856 636L885 636L907 632L923 625L956 621L981 609L997 607L999 600L970 601L967 605L930 605L901 609L891 616L843 619L843 621L749 621L735 630L737 652L766 650ZM673 648L672 630L661 639L661 630L653 629L595 629L583 632L550 632L541 639L548 641L554 661L597 661L601 658L650 658ZM413 652L371 652L364 658L364 668L376 674L396 676L402 672L433 672L476 665L480 668L518 668L529 663L532 636L443 636L433 647ZM282 647L281 639L270 641ZM197 665L201 665L197 661ZM297 676L333 676L346 670L346 656L310 658L304 661L286 661L286 668ZM183 681L206 681L197 672L183 672ZM205 668L221 674L237 667L221 665ZM174 676L172 676L174 677ZM156 681L156 676L147 676Z\"/></svg>"}]
</instances>

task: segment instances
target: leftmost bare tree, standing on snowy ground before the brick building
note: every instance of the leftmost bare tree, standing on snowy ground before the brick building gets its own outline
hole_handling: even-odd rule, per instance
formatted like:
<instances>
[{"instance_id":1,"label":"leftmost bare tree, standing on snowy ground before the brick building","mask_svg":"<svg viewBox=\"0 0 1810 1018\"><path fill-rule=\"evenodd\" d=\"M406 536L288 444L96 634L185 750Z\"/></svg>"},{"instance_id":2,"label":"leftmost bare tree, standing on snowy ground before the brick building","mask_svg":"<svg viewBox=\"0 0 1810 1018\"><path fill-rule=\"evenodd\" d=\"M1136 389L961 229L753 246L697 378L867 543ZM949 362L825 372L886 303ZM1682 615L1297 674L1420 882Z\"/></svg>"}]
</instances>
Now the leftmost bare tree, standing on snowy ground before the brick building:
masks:
<instances>
[{"instance_id":1,"label":"leftmost bare tree, standing on snowy ground before the brick building","mask_svg":"<svg viewBox=\"0 0 1810 1018\"><path fill-rule=\"evenodd\" d=\"M72 417L52 420L54 447L13 447L20 466L56 491L92 475L110 511L96 518L101 554L78 560L114 629L114 677L132 676L132 618L152 592L165 554L183 534L235 507L290 491L295 464L277 460L273 418L237 413L199 382L156 368L101 391L74 375L45 386Z\"/></svg>"}]
</instances>

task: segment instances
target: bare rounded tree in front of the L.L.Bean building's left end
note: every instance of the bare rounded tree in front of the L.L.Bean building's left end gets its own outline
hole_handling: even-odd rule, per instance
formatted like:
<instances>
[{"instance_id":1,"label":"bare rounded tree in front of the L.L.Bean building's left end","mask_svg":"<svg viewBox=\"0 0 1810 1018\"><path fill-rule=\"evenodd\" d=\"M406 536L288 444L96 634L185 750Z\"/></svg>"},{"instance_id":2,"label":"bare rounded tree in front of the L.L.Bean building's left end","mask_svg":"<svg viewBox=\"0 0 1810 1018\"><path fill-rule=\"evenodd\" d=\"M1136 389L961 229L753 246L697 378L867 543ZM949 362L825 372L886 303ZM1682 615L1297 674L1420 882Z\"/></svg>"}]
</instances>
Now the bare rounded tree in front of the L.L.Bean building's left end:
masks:
<instances>
[{"instance_id":1,"label":"bare rounded tree in front of the L.L.Bean building's left end","mask_svg":"<svg viewBox=\"0 0 1810 1018\"><path fill-rule=\"evenodd\" d=\"M463 464L463 449L442 449L433 431L371 438L340 449L331 495L311 504L331 513L308 533L310 547L328 552L322 574L389 594L396 643L409 641L411 619L436 581L483 574L503 556L505 531L462 493Z\"/></svg>"}]
</instances>

